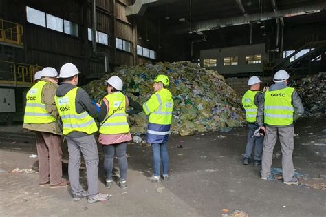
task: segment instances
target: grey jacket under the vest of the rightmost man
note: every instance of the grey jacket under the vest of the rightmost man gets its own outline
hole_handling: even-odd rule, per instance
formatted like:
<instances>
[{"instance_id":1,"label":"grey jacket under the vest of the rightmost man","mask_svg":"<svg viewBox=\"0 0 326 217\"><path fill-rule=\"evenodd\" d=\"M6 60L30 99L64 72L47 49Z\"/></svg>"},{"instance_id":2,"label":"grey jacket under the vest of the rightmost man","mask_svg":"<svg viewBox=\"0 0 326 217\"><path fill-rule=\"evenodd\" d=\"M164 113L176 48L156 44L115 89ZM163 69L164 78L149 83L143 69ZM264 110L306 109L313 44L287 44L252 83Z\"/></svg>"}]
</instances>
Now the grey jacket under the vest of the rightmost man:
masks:
<instances>
[{"instance_id":1,"label":"grey jacket under the vest of the rightmost man","mask_svg":"<svg viewBox=\"0 0 326 217\"><path fill-rule=\"evenodd\" d=\"M287 87L287 84L285 82L282 83L275 83L274 85L270 86L270 91L272 90L281 90ZM265 94L263 94L263 97L261 97L261 101L259 101L259 107L257 110L257 123L259 126L263 126L264 125L264 103L265 103ZM292 93L292 105L294 107L294 116L293 116L293 121L296 121L300 116L303 115L303 112L305 112L305 109L303 107L302 101L300 99L300 96L298 95L298 93L294 90L294 92ZM290 127L292 126L288 125L288 126L275 126L272 125L272 127Z\"/></svg>"}]
</instances>

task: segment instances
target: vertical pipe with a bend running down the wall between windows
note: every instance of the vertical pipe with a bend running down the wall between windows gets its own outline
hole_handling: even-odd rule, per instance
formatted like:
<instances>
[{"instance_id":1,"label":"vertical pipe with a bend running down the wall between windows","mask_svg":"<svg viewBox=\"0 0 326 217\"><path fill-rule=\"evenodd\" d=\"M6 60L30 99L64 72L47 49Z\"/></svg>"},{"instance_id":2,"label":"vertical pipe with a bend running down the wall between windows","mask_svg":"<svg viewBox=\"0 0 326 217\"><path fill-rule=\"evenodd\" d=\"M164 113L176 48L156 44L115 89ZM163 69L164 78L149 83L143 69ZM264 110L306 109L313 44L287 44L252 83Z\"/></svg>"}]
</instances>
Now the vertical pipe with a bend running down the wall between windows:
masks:
<instances>
[{"instance_id":1,"label":"vertical pipe with a bend running down the wall between windows","mask_svg":"<svg viewBox=\"0 0 326 217\"><path fill-rule=\"evenodd\" d=\"M98 52L97 45L96 45L96 0L91 0L91 18L92 18L92 25L91 25L91 43L93 45L93 52L95 56L102 56L104 57L104 66L105 66L105 73L108 72L109 68L109 56L106 52Z\"/></svg>"}]
</instances>

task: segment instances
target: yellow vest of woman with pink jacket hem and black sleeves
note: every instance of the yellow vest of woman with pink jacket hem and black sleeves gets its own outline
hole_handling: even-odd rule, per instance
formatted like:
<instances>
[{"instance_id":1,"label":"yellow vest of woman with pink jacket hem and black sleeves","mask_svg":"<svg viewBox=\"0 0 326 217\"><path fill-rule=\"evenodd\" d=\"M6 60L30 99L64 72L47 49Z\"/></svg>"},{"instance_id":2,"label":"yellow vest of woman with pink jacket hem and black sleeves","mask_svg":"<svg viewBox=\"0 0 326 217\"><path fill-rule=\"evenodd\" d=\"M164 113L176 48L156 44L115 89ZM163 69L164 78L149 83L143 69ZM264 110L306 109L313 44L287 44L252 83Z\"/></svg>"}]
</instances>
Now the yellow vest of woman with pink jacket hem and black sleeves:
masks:
<instances>
[{"instance_id":1,"label":"yellow vest of woman with pink jacket hem and black sleeves","mask_svg":"<svg viewBox=\"0 0 326 217\"><path fill-rule=\"evenodd\" d=\"M130 131L126 114L126 96L121 92L107 94L109 111L104 123L100 126L100 134L125 134Z\"/></svg>"}]
</instances>

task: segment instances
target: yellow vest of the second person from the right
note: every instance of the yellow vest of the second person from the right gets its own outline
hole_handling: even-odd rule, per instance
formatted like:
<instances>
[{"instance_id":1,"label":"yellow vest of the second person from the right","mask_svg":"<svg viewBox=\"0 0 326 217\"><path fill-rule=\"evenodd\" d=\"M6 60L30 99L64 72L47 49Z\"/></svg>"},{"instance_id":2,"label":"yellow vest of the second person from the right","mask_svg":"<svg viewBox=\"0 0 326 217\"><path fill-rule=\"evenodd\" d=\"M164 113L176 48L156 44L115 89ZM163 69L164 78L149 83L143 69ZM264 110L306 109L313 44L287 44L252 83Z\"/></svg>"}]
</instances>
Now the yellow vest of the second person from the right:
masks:
<instances>
[{"instance_id":1,"label":"yellow vest of the second person from the right","mask_svg":"<svg viewBox=\"0 0 326 217\"><path fill-rule=\"evenodd\" d=\"M242 97L242 106L246 110L246 120L247 122L256 122L257 116L257 106L254 104L254 97L259 91L247 90L247 92Z\"/></svg>"}]
</instances>

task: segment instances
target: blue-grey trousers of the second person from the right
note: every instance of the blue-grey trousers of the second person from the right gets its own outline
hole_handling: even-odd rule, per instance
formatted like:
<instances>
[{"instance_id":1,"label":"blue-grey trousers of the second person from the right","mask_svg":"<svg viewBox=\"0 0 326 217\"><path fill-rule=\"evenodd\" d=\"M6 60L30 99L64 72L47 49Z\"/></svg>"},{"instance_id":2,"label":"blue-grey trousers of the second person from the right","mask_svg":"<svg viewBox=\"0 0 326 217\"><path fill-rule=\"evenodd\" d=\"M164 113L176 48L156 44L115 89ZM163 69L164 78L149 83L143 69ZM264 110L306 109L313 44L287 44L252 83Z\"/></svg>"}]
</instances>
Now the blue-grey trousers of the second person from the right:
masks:
<instances>
[{"instance_id":1,"label":"blue-grey trousers of the second person from the right","mask_svg":"<svg viewBox=\"0 0 326 217\"><path fill-rule=\"evenodd\" d=\"M261 154L263 154L263 136L254 136L252 138L254 131L257 130L257 128L259 128L259 126L248 123L248 138L244 157L250 158L252 149L254 149L254 160L261 161Z\"/></svg>"}]
</instances>

